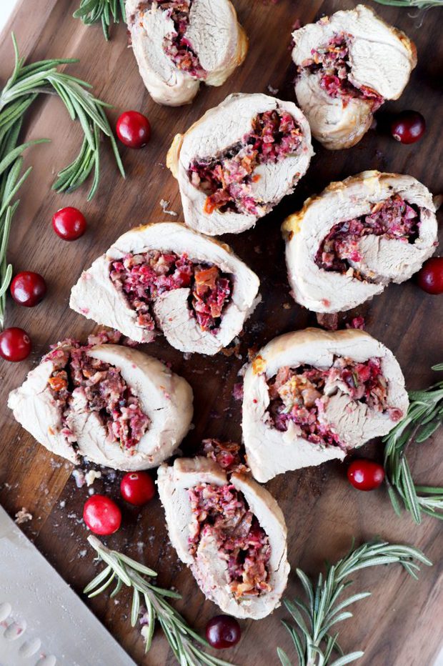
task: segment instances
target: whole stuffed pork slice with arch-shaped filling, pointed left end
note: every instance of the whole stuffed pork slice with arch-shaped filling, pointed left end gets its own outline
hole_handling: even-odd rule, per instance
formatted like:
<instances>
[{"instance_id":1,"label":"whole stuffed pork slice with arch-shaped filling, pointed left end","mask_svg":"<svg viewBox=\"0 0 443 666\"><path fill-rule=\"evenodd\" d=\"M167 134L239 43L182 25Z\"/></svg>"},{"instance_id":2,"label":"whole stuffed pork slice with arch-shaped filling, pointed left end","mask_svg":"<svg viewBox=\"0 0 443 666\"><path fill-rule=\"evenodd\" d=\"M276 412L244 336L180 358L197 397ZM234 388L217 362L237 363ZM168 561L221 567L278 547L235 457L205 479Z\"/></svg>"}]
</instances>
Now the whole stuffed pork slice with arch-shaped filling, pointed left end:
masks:
<instances>
[{"instance_id":1,"label":"whole stuffed pork slice with arch-shaped filling, pointed left end","mask_svg":"<svg viewBox=\"0 0 443 666\"><path fill-rule=\"evenodd\" d=\"M117 239L81 274L70 306L136 342L161 331L181 352L216 354L241 332L258 289L227 245L159 222Z\"/></svg>"}]
</instances>

